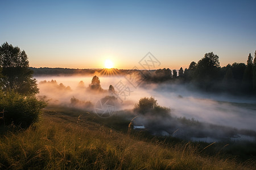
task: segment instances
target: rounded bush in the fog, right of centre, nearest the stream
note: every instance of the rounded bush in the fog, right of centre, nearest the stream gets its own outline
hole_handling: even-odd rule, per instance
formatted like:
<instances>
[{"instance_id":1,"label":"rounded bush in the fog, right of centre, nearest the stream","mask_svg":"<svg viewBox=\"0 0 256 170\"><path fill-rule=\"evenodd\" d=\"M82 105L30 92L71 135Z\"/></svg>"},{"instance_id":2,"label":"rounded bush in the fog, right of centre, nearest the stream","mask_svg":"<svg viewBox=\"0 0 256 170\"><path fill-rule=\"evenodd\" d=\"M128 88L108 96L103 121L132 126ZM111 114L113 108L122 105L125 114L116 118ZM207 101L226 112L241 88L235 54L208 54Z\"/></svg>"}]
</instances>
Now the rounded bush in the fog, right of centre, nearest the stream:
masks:
<instances>
[{"instance_id":1,"label":"rounded bush in the fog, right of centre, nearest the stream","mask_svg":"<svg viewBox=\"0 0 256 170\"><path fill-rule=\"evenodd\" d=\"M170 115L170 109L158 105L154 97L142 97L139 103L135 104L134 111L139 114L150 114L152 116Z\"/></svg>"}]
</instances>

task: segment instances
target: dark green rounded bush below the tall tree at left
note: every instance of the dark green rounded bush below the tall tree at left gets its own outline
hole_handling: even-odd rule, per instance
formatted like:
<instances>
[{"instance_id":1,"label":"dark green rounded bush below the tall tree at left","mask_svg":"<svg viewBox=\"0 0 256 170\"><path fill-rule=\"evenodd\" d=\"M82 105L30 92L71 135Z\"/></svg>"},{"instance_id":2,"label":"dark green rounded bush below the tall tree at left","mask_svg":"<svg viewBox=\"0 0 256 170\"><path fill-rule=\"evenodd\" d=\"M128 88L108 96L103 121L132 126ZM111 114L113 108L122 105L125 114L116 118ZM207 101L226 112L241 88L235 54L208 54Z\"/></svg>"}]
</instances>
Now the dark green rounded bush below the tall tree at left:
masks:
<instances>
[{"instance_id":1,"label":"dark green rounded bush below the tall tree at left","mask_svg":"<svg viewBox=\"0 0 256 170\"><path fill-rule=\"evenodd\" d=\"M46 107L46 101L37 100L35 96L23 96L15 92L0 91L0 111L3 112L5 125L18 125L27 128L39 120L41 109Z\"/></svg>"}]
</instances>

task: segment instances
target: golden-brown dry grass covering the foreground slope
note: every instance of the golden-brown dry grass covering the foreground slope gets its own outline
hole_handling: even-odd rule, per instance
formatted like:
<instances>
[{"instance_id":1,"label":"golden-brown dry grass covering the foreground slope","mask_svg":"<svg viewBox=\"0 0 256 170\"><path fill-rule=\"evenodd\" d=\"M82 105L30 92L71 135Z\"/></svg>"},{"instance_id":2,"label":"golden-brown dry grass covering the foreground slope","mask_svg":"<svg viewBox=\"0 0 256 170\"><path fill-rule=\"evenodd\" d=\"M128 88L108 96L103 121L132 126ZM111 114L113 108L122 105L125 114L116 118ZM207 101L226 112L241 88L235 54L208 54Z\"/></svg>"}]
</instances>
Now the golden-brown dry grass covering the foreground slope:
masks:
<instances>
[{"instance_id":1,"label":"golden-brown dry grass covering the foreground slope","mask_svg":"<svg viewBox=\"0 0 256 170\"><path fill-rule=\"evenodd\" d=\"M255 169L254 160L205 154L212 146L128 134L128 125L118 117L45 109L40 122L0 136L0 169Z\"/></svg>"}]
</instances>

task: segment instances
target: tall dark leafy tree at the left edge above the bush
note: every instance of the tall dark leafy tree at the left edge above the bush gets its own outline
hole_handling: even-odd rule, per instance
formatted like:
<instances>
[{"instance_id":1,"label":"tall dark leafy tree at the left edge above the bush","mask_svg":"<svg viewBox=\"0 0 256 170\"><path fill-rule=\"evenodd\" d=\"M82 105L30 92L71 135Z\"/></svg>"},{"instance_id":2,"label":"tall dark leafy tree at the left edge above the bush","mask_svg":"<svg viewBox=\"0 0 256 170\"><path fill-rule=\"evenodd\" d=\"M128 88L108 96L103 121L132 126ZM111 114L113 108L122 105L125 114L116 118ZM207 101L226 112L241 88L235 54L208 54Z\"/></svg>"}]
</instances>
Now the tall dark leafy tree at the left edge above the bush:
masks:
<instances>
[{"instance_id":1,"label":"tall dark leafy tree at the left edge above the bush","mask_svg":"<svg viewBox=\"0 0 256 170\"><path fill-rule=\"evenodd\" d=\"M2 67L2 89L7 92L18 92L22 95L38 94L36 79L32 78L33 71L28 68L27 54L18 46L7 42L0 46L0 67Z\"/></svg>"}]
</instances>

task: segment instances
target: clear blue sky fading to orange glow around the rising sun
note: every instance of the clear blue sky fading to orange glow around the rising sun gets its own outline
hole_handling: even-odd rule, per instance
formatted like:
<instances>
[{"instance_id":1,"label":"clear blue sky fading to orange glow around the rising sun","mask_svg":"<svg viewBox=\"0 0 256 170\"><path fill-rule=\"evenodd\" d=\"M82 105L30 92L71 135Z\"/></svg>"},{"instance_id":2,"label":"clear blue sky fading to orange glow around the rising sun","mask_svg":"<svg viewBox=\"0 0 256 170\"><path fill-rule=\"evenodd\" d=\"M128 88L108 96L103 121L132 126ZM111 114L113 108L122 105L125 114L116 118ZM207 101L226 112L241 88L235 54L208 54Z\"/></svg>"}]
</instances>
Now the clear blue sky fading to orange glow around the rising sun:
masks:
<instances>
[{"instance_id":1,"label":"clear blue sky fading to orange glow around the rising sun","mask_svg":"<svg viewBox=\"0 0 256 170\"><path fill-rule=\"evenodd\" d=\"M3 1L0 44L25 50L31 67L179 69L205 53L220 65L256 50L256 1Z\"/></svg>"}]
</instances>

